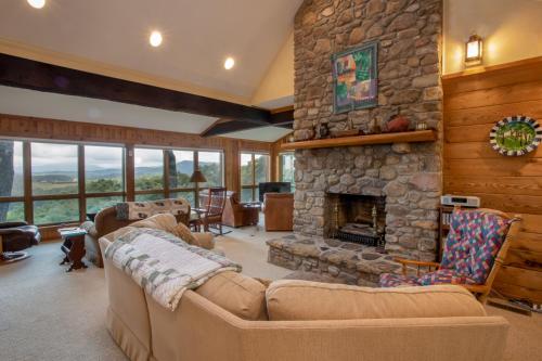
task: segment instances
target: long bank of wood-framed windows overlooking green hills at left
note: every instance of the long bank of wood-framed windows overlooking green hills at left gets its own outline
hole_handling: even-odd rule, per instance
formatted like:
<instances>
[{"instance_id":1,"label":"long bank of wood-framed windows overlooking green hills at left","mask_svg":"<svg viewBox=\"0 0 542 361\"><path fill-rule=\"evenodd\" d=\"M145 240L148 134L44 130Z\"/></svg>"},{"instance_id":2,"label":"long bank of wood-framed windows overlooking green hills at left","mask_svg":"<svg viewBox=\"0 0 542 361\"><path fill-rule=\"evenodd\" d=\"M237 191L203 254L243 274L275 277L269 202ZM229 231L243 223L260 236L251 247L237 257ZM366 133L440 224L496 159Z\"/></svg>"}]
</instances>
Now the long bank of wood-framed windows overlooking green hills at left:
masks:
<instances>
[{"instance_id":1,"label":"long bank of wood-framed windows overlooking green hills at left","mask_svg":"<svg viewBox=\"0 0 542 361\"><path fill-rule=\"evenodd\" d=\"M184 197L196 206L201 188L223 184L221 151L136 147L130 175L126 156L124 146L0 139L0 221L80 222L128 194L136 201ZM190 181L194 169L206 183ZM127 190L127 179L133 189Z\"/></svg>"}]
</instances>

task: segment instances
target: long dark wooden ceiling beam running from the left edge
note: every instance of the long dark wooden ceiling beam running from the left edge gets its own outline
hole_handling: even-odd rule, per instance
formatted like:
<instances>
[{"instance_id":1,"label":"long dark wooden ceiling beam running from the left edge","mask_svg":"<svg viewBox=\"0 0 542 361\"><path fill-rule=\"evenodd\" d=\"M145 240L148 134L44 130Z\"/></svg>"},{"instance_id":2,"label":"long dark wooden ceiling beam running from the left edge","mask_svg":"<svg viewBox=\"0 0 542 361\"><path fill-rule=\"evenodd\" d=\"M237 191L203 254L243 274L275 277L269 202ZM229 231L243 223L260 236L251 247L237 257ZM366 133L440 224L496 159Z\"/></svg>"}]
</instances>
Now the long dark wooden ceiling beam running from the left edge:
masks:
<instances>
[{"instance_id":1,"label":"long dark wooden ceiling beam running from the left edge","mask_svg":"<svg viewBox=\"0 0 542 361\"><path fill-rule=\"evenodd\" d=\"M0 54L0 85L267 125L271 113L103 75Z\"/></svg>"}]
</instances>

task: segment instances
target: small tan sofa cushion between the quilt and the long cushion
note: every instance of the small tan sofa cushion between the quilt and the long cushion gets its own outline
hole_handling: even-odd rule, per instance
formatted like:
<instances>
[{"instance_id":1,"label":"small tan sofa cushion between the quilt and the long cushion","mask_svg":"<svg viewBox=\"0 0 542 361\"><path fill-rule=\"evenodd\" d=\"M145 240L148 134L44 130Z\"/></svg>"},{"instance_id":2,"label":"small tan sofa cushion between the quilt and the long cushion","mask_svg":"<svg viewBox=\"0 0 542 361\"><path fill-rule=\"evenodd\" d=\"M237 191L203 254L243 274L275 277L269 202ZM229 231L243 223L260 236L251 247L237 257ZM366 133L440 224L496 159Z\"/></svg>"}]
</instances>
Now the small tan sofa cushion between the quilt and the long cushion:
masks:
<instances>
[{"instance_id":1,"label":"small tan sofa cushion between the quilt and the long cushion","mask_svg":"<svg viewBox=\"0 0 542 361\"><path fill-rule=\"evenodd\" d=\"M218 273L196 293L244 320L267 320L266 286L247 275Z\"/></svg>"}]
</instances>

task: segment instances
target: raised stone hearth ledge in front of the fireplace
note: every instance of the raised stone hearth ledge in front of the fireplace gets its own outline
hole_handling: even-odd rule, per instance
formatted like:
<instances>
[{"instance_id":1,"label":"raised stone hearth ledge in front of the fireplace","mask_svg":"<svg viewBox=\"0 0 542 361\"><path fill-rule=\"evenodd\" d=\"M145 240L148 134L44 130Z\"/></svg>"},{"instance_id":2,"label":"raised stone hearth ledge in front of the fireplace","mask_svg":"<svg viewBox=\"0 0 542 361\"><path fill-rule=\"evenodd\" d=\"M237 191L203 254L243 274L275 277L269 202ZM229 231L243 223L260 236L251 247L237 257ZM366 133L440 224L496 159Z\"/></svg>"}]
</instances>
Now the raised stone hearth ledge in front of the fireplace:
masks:
<instances>
[{"instance_id":1,"label":"raised stone hearth ledge in front of the fireplace","mask_svg":"<svg viewBox=\"0 0 542 361\"><path fill-rule=\"evenodd\" d=\"M268 261L291 270L311 272L340 283L376 286L380 273L400 272L392 255L379 254L375 247L314 238L299 234L268 241Z\"/></svg>"}]
</instances>

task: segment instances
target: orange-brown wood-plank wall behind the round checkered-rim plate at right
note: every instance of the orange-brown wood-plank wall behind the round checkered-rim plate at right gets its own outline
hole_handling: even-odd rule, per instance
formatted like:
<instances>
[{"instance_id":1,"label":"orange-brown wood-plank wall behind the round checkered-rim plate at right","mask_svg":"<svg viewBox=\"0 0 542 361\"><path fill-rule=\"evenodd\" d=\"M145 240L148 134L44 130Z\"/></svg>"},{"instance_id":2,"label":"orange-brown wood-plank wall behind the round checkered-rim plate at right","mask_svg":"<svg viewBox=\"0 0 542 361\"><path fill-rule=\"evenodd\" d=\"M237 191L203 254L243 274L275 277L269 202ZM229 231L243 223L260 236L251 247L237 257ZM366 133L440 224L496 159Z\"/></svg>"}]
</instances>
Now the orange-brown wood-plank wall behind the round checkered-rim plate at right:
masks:
<instances>
[{"instance_id":1,"label":"orange-brown wood-plank wall behind the round checkered-rim plate at right","mask_svg":"<svg viewBox=\"0 0 542 361\"><path fill-rule=\"evenodd\" d=\"M512 244L494 288L542 302L542 147L521 157L492 150L489 132L511 115L542 125L542 57L457 74L444 89L444 192L476 195L482 207L520 214L522 232Z\"/></svg>"}]
</instances>

